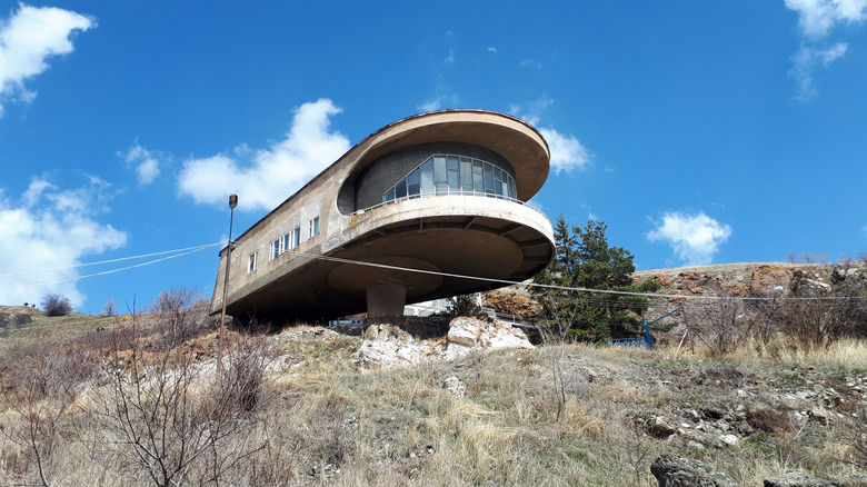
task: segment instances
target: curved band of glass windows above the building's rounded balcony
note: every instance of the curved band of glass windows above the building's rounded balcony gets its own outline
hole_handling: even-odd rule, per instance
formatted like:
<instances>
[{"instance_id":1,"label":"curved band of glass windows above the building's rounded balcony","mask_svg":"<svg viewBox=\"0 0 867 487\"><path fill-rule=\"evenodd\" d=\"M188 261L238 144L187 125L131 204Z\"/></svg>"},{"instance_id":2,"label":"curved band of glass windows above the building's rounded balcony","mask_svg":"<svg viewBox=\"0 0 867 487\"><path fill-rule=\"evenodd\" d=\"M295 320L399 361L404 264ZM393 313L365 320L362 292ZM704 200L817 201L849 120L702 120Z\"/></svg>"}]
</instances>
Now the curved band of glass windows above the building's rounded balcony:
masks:
<instances>
[{"instance_id":1,"label":"curved band of glass windows above the building's rounded balcony","mask_svg":"<svg viewBox=\"0 0 867 487\"><path fill-rule=\"evenodd\" d=\"M382 202L449 193L481 193L515 199L515 178L498 166L480 159L435 153L383 192Z\"/></svg>"}]
</instances>

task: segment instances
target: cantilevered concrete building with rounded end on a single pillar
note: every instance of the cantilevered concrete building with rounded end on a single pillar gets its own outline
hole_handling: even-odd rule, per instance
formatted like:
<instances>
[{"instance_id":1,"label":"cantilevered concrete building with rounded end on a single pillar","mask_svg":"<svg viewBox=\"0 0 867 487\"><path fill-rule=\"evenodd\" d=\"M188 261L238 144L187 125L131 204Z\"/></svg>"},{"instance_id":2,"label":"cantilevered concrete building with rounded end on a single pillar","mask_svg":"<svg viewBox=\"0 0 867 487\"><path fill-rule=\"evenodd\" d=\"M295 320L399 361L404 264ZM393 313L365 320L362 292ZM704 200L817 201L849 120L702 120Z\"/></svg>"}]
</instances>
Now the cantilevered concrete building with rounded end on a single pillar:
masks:
<instances>
[{"instance_id":1,"label":"cantilevered concrete building with rounded end on a single pillar","mask_svg":"<svg viewBox=\"0 0 867 487\"><path fill-rule=\"evenodd\" d=\"M504 286L438 272L525 280L554 255L550 222L525 203L549 159L541 135L504 113L445 110L391 123L235 240L227 314L275 322L400 315L406 304Z\"/></svg>"}]
</instances>

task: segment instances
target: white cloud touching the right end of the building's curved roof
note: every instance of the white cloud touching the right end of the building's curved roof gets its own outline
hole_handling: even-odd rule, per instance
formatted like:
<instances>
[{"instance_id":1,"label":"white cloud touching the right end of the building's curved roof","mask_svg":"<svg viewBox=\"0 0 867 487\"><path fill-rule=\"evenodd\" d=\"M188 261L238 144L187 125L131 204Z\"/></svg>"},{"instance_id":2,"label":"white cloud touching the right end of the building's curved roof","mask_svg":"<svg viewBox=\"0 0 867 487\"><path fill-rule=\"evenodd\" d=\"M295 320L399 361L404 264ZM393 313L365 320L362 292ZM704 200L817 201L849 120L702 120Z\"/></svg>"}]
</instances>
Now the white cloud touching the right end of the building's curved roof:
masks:
<instances>
[{"instance_id":1,"label":"white cloud touching the right end of the building's curved roof","mask_svg":"<svg viewBox=\"0 0 867 487\"><path fill-rule=\"evenodd\" d=\"M554 105L554 100L548 97L541 97L526 103L526 106L510 105L509 113L527 120L527 122L539 129L545 140L548 141L548 149L551 151L551 170L555 172L568 172L574 169L586 169L590 165L592 155L578 138L571 133L562 133L552 127L539 127L541 112L551 105Z\"/></svg>"}]
</instances>

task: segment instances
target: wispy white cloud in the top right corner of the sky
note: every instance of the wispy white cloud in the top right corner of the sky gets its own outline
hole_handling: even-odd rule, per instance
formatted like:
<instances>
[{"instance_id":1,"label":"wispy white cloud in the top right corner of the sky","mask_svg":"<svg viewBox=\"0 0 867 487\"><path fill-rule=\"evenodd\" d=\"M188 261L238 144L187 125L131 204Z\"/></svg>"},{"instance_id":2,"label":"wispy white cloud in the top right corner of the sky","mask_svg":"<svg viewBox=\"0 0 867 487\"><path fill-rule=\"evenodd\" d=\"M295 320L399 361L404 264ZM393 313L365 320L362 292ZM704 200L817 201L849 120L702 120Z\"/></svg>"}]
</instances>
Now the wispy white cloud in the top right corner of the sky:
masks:
<instances>
[{"instance_id":1,"label":"wispy white cloud in the top right corner of the sky","mask_svg":"<svg viewBox=\"0 0 867 487\"><path fill-rule=\"evenodd\" d=\"M786 7L798 13L798 27L803 42L793 56L789 76L797 87L796 99L806 101L817 95L814 73L819 67L827 68L846 54L848 43L823 44L840 23L860 23L867 19L867 0L786 0Z\"/></svg>"}]
</instances>

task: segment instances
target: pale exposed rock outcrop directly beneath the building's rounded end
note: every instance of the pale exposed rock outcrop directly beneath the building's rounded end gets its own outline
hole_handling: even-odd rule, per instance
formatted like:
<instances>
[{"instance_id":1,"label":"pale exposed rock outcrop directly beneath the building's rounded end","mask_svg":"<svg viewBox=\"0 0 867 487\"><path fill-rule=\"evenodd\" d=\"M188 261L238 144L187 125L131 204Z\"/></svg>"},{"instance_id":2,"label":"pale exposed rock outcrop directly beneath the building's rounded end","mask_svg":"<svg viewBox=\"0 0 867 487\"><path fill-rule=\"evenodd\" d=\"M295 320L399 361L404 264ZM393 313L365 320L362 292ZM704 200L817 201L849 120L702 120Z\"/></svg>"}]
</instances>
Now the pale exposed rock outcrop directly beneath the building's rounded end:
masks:
<instances>
[{"instance_id":1,"label":"pale exposed rock outcrop directly beneath the building's rounded end","mask_svg":"<svg viewBox=\"0 0 867 487\"><path fill-rule=\"evenodd\" d=\"M449 324L446 345L418 341L395 325L370 325L356 352L361 365L385 367L419 364L431 359L454 359L472 351L496 348L534 348L519 328L500 321L458 317Z\"/></svg>"}]
</instances>

